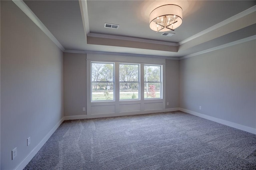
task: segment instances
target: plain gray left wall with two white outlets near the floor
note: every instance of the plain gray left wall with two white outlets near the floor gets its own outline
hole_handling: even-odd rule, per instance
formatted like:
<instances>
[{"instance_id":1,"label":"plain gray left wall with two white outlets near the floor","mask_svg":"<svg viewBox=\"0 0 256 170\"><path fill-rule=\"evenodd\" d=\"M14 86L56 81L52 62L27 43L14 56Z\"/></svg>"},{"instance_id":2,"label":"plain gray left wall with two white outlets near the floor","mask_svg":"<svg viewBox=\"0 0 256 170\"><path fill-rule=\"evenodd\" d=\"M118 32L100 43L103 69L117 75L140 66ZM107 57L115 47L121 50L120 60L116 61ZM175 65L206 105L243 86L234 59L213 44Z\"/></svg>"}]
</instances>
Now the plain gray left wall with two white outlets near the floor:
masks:
<instances>
[{"instance_id":1,"label":"plain gray left wall with two white outlets near the floor","mask_svg":"<svg viewBox=\"0 0 256 170\"><path fill-rule=\"evenodd\" d=\"M1 169L9 170L63 117L63 53L12 1L0 3Z\"/></svg>"}]
</instances>

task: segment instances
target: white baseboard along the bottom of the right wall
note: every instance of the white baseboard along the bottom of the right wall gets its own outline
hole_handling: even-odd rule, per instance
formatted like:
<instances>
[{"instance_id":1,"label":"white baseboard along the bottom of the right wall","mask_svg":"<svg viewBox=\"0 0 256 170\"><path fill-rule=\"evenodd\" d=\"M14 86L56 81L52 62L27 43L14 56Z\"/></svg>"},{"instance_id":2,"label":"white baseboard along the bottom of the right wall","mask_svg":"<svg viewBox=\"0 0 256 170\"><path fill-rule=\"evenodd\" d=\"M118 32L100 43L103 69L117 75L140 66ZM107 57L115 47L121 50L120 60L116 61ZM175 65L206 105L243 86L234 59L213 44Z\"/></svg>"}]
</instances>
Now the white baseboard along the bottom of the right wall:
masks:
<instances>
[{"instance_id":1,"label":"white baseboard along the bottom of the right wall","mask_svg":"<svg viewBox=\"0 0 256 170\"><path fill-rule=\"evenodd\" d=\"M204 115L202 113L197 113L197 112L190 111L190 110L183 109L183 108L180 108L179 110L183 111L183 112L186 112L186 113L189 113L191 115L195 115L195 116L198 116L198 117L202 117L204 119L208 119L210 121L214 121L214 122L217 122L217 123L220 123L220 124L223 124L223 125L227 125L229 127L237 128L237 129L240 129L240 130L244 130L246 132L256 134L256 128L251 128L251 127L247 127L247 126L240 125L240 124L237 124L237 123L233 123L233 122L230 122L230 121L225 121L223 119L218 119L216 117L211 117L211 116L208 116L208 115Z\"/></svg>"}]
</instances>

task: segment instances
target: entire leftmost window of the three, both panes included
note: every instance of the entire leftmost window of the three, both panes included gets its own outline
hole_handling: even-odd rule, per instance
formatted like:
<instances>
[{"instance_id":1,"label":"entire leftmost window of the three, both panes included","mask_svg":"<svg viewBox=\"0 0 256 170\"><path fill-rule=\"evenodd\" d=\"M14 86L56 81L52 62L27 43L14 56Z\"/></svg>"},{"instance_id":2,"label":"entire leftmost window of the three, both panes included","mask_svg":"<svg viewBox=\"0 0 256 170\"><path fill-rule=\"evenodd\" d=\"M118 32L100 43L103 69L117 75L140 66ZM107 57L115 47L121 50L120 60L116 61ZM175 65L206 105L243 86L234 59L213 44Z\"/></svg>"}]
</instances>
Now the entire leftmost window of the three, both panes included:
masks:
<instances>
[{"instance_id":1,"label":"entire leftmost window of the three, both panes included","mask_svg":"<svg viewBox=\"0 0 256 170\"><path fill-rule=\"evenodd\" d=\"M91 62L91 101L114 101L114 63Z\"/></svg>"}]
</instances>

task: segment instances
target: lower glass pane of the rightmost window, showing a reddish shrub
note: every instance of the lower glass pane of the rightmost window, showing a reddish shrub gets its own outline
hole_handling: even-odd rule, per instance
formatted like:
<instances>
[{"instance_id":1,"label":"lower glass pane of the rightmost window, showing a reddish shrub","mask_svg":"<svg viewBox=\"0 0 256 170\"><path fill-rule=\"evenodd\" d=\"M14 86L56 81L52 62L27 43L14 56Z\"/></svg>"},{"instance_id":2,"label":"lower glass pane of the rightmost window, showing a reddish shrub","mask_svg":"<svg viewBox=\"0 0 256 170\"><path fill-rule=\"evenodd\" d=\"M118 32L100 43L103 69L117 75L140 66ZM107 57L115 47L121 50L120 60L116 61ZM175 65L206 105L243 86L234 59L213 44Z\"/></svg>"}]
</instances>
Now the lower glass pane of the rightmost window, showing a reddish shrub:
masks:
<instances>
[{"instance_id":1,"label":"lower glass pane of the rightmost window, showing a reddish shrub","mask_svg":"<svg viewBox=\"0 0 256 170\"><path fill-rule=\"evenodd\" d=\"M144 83L144 98L162 98L161 83Z\"/></svg>"}]
</instances>

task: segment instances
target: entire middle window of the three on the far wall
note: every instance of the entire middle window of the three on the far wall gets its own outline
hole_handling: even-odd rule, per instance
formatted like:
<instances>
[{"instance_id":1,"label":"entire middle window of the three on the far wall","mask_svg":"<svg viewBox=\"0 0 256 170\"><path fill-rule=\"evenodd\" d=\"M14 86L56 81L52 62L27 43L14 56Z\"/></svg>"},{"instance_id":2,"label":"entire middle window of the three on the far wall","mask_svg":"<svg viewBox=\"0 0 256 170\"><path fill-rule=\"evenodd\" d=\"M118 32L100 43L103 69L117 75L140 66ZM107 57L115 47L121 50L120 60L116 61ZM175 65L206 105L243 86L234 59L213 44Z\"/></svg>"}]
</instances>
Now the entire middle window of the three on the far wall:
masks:
<instances>
[{"instance_id":1,"label":"entire middle window of the three on the far wall","mask_svg":"<svg viewBox=\"0 0 256 170\"><path fill-rule=\"evenodd\" d=\"M140 99L139 64L119 64L120 100Z\"/></svg>"}]
</instances>

